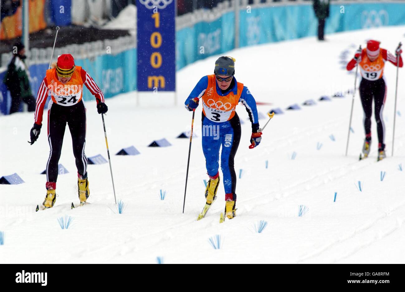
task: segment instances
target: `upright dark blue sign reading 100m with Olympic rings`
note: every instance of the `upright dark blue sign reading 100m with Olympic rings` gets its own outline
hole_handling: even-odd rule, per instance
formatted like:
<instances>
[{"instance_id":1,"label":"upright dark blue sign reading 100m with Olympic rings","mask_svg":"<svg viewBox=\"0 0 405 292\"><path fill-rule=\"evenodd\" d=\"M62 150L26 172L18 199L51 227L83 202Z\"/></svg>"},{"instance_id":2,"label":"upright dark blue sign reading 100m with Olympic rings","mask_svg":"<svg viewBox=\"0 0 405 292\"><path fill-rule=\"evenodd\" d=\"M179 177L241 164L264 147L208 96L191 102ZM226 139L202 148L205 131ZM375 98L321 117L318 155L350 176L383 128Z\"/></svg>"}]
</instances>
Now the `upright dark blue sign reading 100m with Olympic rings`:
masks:
<instances>
[{"instance_id":1,"label":"upright dark blue sign reading 100m with Olympic rings","mask_svg":"<svg viewBox=\"0 0 405 292\"><path fill-rule=\"evenodd\" d=\"M138 91L176 91L175 0L136 0Z\"/></svg>"}]
</instances>

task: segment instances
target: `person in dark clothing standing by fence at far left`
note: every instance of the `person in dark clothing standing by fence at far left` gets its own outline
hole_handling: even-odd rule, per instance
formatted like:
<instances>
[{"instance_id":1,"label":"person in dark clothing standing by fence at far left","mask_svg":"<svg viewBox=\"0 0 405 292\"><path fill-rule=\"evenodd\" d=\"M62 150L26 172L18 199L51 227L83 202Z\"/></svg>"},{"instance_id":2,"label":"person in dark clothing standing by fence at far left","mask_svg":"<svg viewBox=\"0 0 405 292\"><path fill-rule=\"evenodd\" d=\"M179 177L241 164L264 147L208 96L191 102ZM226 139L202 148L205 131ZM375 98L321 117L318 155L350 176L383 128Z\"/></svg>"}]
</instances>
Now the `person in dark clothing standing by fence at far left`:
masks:
<instances>
[{"instance_id":1,"label":"person in dark clothing standing by fence at far left","mask_svg":"<svg viewBox=\"0 0 405 292\"><path fill-rule=\"evenodd\" d=\"M13 58L3 80L11 95L10 113L18 111L21 100L28 104L28 111L35 111L35 98L30 87L28 68L24 62L26 58L24 45L16 43L13 46Z\"/></svg>"}]
</instances>

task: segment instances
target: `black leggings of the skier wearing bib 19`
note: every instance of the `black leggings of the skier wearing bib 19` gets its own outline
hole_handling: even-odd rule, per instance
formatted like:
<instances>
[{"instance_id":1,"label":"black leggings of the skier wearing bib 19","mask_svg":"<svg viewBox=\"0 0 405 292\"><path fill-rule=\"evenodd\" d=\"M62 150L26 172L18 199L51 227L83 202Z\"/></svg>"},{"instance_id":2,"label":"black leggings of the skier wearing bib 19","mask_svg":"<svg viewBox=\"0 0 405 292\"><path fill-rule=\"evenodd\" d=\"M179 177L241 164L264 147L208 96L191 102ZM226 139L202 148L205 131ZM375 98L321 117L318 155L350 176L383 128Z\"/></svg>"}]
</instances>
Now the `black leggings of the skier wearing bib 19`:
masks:
<instances>
[{"instance_id":1,"label":"black leggings of the skier wearing bib 19","mask_svg":"<svg viewBox=\"0 0 405 292\"><path fill-rule=\"evenodd\" d=\"M364 130L366 137L371 138L371 115L373 113L374 97L374 117L377 122L378 147L380 150L384 150L385 147L385 125L382 111L384 109L386 91L387 89L383 78L375 81L362 78L360 82L360 99L364 111Z\"/></svg>"}]
</instances>

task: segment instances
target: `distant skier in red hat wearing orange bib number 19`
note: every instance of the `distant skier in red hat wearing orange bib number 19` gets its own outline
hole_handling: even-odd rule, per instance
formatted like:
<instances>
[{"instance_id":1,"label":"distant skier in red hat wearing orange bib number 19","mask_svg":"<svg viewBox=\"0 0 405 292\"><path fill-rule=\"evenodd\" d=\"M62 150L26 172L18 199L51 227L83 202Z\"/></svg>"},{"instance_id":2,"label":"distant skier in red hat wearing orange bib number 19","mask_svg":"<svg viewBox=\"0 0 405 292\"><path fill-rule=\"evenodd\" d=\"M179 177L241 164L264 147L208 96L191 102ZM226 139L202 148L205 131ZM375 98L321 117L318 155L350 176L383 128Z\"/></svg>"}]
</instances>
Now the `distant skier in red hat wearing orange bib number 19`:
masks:
<instances>
[{"instance_id":1,"label":"distant skier in red hat wearing orange bib number 19","mask_svg":"<svg viewBox=\"0 0 405 292\"><path fill-rule=\"evenodd\" d=\"M380 42L376 40L369 40L367 48L357 50L354 58L347 64L347 70L352 70L356 64L360 67L361 81L360 81L360 100L364 111L364 132L366 138L364 139L362 152L364 157L370 153L371 144L371 114L372 104L374 98L374 116L377 122L377 135L378 135L378 158L382 160L386 157L385 153L385 125L382 116L385 100L387 97L387 85L385 84L384 65L388 60L395 66L396 57L386 49L379 47ZM396 56L399 56L399 67L403 66L401 57L401 49L395 51Z\"/></svg>"}]
</instances>

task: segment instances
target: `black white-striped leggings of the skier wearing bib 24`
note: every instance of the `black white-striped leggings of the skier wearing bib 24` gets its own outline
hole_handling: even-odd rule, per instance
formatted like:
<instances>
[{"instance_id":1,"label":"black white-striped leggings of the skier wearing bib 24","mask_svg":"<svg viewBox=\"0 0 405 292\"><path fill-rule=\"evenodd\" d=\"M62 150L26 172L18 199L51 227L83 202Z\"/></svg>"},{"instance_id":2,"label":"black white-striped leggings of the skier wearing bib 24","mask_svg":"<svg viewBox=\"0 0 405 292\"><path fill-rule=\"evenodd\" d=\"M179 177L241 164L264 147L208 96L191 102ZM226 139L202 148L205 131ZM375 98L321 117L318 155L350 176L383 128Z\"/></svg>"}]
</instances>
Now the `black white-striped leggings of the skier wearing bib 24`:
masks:
<instances>
[{"instance_id":1,"label":"black white-striped leggings of the skier wearing bib 24","mask_svg":"<svg viewBox=\"0 0 405 292\"><path fill-rule=\"evenodd\" d=\"M50 147L47 164L47 181L56 182L58 163L62 151L66 123L72 136L73 155L76 159L77 172L87 177L87 157L84 154L86 144L86 108L83 101L63 107L53 103L48 110L48 142Z\"/></svg>"}]
</instances>

